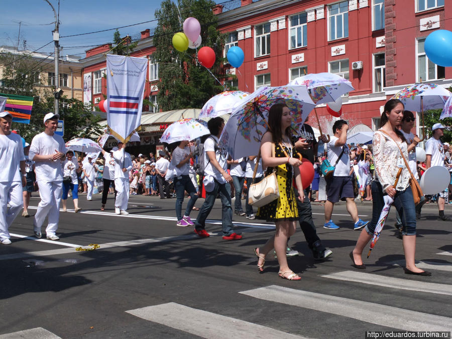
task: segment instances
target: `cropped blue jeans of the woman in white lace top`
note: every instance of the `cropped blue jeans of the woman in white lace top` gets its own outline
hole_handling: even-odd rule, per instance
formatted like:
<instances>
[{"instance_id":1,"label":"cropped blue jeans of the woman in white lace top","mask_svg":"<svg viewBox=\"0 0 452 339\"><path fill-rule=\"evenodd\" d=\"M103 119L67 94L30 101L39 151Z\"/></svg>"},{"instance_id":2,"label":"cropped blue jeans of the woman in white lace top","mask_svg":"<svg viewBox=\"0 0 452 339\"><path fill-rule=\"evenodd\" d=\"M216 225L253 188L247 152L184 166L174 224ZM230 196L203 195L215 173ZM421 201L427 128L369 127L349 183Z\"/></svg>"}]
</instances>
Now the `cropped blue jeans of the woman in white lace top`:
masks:
<instances>
[{"instance_id":1,"label":"cropped blue jeans of the woman in white lace top","mask_svg":"<svg viewBox=\"0 0 452 339\"><path fill-rule=\"evenodd\" d=\"M385 205L383 201L383 188L378 181L372 183L372 220L366 226L368 234L374 234L380 213ZM416 210L414 206L413 193L408 186L404 191L397 191L392 203L402 220L402 234L404 236L416 235Z\"/></svg>"}]
</instances>

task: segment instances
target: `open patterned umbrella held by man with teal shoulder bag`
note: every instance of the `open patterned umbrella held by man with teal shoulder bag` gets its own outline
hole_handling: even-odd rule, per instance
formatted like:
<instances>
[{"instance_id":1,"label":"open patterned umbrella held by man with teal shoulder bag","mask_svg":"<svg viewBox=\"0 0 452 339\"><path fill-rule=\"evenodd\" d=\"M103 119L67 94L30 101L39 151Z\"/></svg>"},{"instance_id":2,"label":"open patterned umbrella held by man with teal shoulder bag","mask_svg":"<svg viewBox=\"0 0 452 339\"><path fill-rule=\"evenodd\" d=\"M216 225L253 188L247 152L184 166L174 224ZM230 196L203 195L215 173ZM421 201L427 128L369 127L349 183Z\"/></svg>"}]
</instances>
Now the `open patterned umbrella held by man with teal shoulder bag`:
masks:
<instances>
[{"instance_id":1,"label":"open patterned umbrella held by man with teal shoulder bag","mask_svg":"<svg viewBox=\"0 0 452 339\"><path fill-rule=\"evenodd\" d=\"M329 72L306 74L293 79L289 84L306 86L315 104L335 101L341 95L355 89L348 79ZM314 112L317 118L318 130L320 135L323 135L315 108Z\"/></svg>"}]
</instances>

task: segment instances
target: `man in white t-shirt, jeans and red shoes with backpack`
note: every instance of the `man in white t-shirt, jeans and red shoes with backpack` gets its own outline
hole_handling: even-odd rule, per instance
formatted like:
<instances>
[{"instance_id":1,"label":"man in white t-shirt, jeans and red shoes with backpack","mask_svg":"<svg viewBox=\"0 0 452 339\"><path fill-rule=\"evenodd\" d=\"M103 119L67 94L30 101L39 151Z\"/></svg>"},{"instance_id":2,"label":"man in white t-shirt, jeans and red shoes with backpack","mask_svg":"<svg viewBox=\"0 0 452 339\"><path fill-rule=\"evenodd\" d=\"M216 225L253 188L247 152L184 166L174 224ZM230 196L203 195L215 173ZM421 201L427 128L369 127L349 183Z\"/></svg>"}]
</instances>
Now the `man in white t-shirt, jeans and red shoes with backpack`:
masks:
<instances>
[{"instance_id":1,"label":"man in white t-shirt, jeans and red shoes with backpack","mask_svg":"<svg viewBox=\"0 0 452 339\"><path fill-rule=\"evenodd\" d=\"M228 174L228 153L218 147L218 138L224 128L224 120L212 118L207 123L210 136L204 141L204 188L205 200L196 218L195 233L201 237L209 237L205 230L205 219L215 203L219 193L221 199L221 225L224 240L239 240L242 236L234 232L231 206L231 175Z\"/></svg>"}]
</instances>

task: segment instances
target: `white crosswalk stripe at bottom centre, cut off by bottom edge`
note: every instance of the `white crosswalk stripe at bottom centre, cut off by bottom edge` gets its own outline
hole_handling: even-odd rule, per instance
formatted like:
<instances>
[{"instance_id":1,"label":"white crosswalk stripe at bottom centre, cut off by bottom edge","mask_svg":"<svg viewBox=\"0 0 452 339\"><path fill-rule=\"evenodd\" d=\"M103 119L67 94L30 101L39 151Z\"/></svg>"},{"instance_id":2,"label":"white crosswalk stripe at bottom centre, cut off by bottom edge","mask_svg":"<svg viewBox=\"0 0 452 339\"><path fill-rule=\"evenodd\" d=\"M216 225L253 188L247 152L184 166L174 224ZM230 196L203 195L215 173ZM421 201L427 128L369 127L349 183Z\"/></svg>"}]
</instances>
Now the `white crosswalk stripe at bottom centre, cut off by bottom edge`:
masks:
<instances>
[{"instance_id":1,"label":"white crosswalk stripe at bottom centre, cut off by bottom edge","mask_svg":"<svg viewBox=\"0 0 452 339\"><path fill-rule=\"evenodd\" d=\"M139 318L203 338L302 338L271 327L203 311L174 302L126 311Z\"/></svg>"}]
</instances>

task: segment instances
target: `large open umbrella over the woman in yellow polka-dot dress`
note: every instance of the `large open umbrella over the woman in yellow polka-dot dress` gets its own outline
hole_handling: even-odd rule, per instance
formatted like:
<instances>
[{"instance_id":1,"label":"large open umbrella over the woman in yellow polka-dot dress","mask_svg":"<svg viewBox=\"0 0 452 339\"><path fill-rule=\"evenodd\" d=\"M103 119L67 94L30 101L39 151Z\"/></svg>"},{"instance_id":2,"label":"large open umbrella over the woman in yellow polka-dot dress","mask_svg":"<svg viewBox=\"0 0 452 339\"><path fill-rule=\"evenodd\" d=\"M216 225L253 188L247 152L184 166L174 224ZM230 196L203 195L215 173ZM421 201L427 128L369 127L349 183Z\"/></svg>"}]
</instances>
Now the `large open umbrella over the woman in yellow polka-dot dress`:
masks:
<instances>
[{"instance_id":1,"label":"large open umbrella over the woman in yellow polka-dot dress","mask_svg":"<svg viewBox=\"0 0 452 339\"><path fill-rule=\"evenodd\" d=\"M294 122L292 128L299 133L299 126L315 106L306 86L260 87L231 114L218 146L227 150L233 159L257 155L267 131L268 111L279 102L289 107Z\"/></svg>"}]
</instances>

